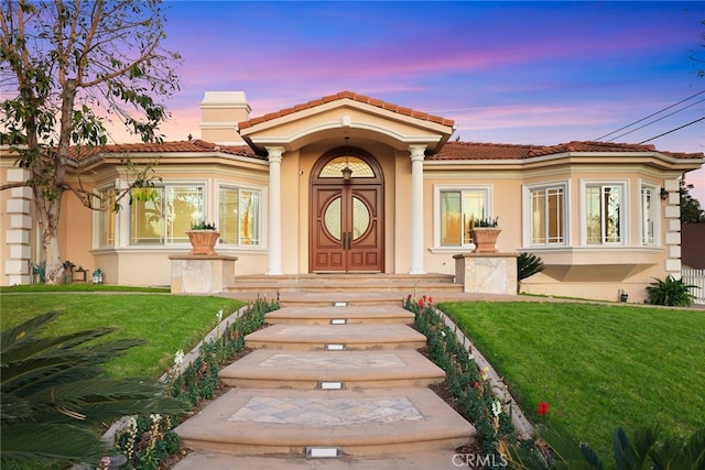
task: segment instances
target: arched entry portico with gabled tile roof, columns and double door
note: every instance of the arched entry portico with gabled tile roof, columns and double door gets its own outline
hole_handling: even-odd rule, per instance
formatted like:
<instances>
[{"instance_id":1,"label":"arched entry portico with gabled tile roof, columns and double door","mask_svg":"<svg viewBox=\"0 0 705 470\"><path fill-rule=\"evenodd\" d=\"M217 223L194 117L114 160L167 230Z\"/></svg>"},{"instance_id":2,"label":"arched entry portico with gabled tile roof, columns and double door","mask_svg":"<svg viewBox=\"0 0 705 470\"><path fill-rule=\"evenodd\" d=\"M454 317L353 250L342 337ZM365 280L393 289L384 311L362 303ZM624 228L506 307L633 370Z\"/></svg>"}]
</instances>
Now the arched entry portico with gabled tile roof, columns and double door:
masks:
<instances>
[{"instance_id":1,"label":"arched entry portico with gabled tile roof, columns and double door","mask_svg":"<svg viewBox=\"0 0 705 470\"><path fill-rule=\"evenodd\" d=\"M334 98L238 125L269 161L267 273L424 274L423 160L453 121L349 91ZM295 245L284 227L299 228ZM300 253L295 266L283 267L284 252Z\"/></svg>"}]
</instances>

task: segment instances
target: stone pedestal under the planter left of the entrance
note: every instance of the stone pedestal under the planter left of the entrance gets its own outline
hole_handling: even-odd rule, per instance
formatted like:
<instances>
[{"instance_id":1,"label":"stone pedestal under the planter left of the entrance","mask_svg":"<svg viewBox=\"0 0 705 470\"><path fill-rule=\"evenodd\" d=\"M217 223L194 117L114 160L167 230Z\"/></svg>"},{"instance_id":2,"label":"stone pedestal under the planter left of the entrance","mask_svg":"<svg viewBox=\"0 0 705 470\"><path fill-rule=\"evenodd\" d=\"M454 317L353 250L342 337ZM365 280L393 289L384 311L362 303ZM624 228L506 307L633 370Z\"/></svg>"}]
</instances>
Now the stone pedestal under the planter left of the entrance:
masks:
<instances>
[{"instance_id":1,"label":"stone pedestal under the planter left of the entrance","mask_svg":"<svg viewBox=\"0 0 705 470\"><path fill-rule=\"evenodd\" d=\"M172 254L172 294L220 294L235 283L236 256Z\"/></svg>"}]
</instances>

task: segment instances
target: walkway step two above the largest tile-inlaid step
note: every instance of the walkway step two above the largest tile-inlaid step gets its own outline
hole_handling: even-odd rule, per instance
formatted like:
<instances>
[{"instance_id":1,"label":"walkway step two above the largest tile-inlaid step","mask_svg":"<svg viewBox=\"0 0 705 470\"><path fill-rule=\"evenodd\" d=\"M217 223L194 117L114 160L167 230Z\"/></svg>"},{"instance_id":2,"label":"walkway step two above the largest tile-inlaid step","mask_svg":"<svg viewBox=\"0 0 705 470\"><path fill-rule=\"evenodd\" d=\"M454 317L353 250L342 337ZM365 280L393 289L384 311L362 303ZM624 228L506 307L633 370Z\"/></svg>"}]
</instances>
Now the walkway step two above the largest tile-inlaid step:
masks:
<instances>
[{"instance_id":1,"label":"walkway step two above the largest tile-inlaid step","mask_svg":"<svg viewBox=\"0 0 705 470\"><path fill-rule=\"evenodd\" d=\"M248 348L289 350L419 349L426 338L408 325L272 325L245 337Z\"/></svg>"}]
</instances>

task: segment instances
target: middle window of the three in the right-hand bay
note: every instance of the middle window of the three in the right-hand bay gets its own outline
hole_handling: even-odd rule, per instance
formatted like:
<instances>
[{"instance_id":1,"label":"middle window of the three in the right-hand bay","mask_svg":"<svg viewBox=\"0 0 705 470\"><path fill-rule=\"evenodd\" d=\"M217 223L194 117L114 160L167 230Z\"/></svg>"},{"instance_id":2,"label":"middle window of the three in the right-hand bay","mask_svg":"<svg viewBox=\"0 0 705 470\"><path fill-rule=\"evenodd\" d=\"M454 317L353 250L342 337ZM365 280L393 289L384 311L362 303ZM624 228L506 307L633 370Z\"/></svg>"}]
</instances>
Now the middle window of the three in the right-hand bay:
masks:
<instances>
[{"instance_id":1,"label":"middle window of the three in the right-hand bay","mask_svg":"<svg viewBox=\"0 0 705 470\"><path fill-rule=\"evenodd\" d=\"M587 244L622 242L621 185L588 185L585 188Z\"/></svg>"}]
</instances>

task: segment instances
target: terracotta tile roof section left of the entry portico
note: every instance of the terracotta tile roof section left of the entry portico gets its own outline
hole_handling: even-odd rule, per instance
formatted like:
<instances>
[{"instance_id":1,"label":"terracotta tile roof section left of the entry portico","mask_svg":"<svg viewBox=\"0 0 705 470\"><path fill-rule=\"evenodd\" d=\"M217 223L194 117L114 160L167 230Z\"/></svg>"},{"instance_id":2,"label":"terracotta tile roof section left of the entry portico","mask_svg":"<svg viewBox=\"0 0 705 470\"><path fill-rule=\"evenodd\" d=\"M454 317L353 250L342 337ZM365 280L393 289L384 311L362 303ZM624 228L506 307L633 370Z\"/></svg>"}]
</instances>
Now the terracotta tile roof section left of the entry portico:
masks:
<instances>
[{"instance_id":1,"label":"terracotta tile roof section left of the entry portico","mask_svg":"<svg viewBox=\"0 0 705 470\"><path fill-rule=\"evenodd\" d=\"M216 145L212 142L205 142L202 140L191 140L191 141L174 141L174 142L162 142L162 143L126 143L126 144L115 144L115 145L105 145L101 147L95 149L86 149L86 147L76 147L73 146L70 149L69 159L76 160L85 160L89 156L101 154L101 153L124 153L129 152L131 154L134 153L227 153L230 155L242 155L242 156L251 156L259 159L258 155L254 154L252 149L248 145Z\"/></svg>"}]
</instances>

